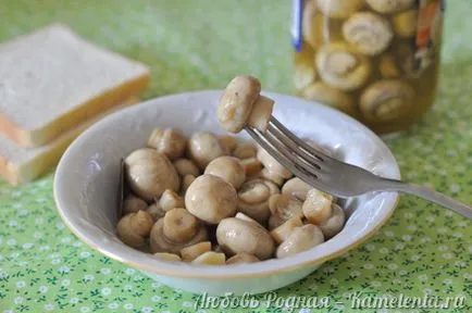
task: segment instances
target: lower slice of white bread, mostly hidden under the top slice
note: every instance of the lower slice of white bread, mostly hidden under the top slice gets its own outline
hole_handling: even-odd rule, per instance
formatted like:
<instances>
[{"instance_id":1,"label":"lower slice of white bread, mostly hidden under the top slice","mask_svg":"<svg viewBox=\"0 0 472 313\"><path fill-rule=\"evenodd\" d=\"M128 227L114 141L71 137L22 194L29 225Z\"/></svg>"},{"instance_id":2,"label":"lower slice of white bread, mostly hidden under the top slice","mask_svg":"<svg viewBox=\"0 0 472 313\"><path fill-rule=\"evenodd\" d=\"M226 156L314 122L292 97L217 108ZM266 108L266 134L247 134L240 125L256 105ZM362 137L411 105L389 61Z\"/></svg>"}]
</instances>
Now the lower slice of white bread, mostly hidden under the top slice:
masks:
<instances>
[{"instance_id":1,"label":"lower slice of white bread, mostly hidden under the top slice","mask_svg":"<svg viewBox=\"0 0 472 313\"><path fill-rule=\"evenodd\" d=\"M39 148L18 147L0 134L0 177L16 186L36 179L57 165L70 143L85 129L104 116L139 102L131 98L121 105L114 105L98 116L79 124L51 142Z\"/></svg>"}]
</instances>

